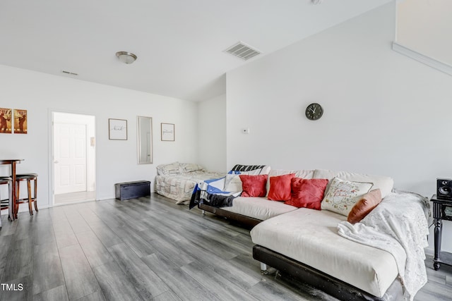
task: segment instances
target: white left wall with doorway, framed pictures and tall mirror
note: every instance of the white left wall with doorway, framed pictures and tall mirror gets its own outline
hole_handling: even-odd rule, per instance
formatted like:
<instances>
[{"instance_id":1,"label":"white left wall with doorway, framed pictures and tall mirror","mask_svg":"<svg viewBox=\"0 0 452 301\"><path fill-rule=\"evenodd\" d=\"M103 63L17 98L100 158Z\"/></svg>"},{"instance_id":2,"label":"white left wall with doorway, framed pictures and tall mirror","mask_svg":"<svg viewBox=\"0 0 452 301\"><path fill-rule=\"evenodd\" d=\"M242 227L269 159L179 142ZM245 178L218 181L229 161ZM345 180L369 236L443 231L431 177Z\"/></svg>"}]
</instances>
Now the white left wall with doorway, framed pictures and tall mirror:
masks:
<instances>
[{"instance_id":1,"label":"white left wall with doorway, framed pictures and tall mirror","mask_svg":"<svg viewBox=\"0 0 452 301\"><path fill-rule=\"evenodd\" d=\"M197 105L194 102L0 66L0 107L28 110L28 134L0 134L0 158L25 159L18 172L39 174L38 204L49 204L51 111L96 118L97 199L114 197L114 183L151 180L155 166L196 162ZM136 116L153 117L153 164L137 164ZM108 118L128 121L128 140L108 139ZM160 123L174 123L176 141L160 141ZM9 174L7 166L0 174ZM153 185L151 185L153 187Z\"/></svg>"}]
</instances>

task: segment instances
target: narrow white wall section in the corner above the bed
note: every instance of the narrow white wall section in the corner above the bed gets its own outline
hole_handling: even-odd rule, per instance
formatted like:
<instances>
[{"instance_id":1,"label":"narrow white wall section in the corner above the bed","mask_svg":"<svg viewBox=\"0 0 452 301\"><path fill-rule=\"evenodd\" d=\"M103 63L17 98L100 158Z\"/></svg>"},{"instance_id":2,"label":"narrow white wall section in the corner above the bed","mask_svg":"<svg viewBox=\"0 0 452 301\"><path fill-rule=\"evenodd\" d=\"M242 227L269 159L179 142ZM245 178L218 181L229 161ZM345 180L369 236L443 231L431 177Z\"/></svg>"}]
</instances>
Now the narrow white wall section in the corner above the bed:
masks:
<instances>
[{"instance_id":1,"label":"narrow white wall section in the corner above the bed","mask_svg":"<svg viewBox=\"0 0 452 301\"><path fill-rule=\"evenodd\" d=\"M198 102L198 161L209 171L226 172L226 95Z\"/></svg>"}]
</instances>

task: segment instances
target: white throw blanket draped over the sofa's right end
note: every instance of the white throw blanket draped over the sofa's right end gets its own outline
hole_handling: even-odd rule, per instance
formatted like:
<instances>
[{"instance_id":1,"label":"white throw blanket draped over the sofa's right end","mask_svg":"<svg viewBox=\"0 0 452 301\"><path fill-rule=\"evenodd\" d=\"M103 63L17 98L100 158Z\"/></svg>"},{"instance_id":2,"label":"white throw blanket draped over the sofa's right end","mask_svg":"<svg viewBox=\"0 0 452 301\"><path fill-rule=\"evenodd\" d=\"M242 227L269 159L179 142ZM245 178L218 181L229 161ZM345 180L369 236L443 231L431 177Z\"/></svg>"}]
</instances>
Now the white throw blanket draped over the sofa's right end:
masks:
<instances>
[{"instance_id":1,"label":"white throw blanket draped over the sofa's right end","mask_svg":"<svg viewBox=\"0 0 452 301\"><path fill-rule=\"evenodd\" d=\"M410 192L393 192L361 222L338 224L338 233L364 245L385 250L396 259L405 300L413 300L427 283L424 247L428 246L428 199Z\"/></svg>"}]
</instances>

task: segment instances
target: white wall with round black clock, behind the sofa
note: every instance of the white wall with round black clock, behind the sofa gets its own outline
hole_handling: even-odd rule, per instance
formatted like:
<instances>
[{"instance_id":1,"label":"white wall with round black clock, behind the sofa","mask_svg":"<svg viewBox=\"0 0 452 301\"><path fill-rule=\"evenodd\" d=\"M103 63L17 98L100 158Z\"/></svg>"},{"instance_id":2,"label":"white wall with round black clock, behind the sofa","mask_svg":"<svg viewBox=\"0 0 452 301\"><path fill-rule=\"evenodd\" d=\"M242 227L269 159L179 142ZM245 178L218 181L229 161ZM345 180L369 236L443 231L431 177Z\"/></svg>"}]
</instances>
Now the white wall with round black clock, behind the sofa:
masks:
<instances>
[{"instance_id":1,"label":"white wall with round black clock, behind the sofa","mask_svg":"<svg viewBox=\"0 0 452 301\"><path fill-rule=\"evenodd\" d=\"M432 196L452 178L452 77L392 51L394 30L388 4L227 73L227 165L380 174Z\"/></svg>"}]
</instances>

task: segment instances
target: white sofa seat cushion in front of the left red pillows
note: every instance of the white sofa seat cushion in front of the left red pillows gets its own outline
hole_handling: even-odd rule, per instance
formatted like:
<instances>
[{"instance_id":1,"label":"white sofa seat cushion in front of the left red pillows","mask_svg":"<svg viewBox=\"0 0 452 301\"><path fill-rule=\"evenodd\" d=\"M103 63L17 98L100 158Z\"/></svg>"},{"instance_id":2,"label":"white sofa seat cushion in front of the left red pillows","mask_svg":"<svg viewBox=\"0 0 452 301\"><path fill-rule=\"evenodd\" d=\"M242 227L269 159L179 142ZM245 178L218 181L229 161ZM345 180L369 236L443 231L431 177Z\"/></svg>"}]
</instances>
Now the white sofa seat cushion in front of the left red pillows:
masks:
<instances>
[{"instance_id":1,"label":"white sofa seat cushion in front of the left red pillows","mask_svg":"<svg viewBox=\"0 0 452 301\"><path fill-rule=\"evenodd\" d=\"M297 207L284 202L269 201L266 197L236 197L232 207L222 209L265 221L270 217L296 210Z\"/></svg>"}]
</instances>

